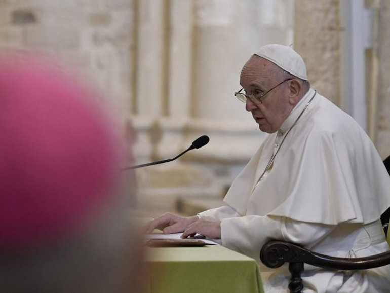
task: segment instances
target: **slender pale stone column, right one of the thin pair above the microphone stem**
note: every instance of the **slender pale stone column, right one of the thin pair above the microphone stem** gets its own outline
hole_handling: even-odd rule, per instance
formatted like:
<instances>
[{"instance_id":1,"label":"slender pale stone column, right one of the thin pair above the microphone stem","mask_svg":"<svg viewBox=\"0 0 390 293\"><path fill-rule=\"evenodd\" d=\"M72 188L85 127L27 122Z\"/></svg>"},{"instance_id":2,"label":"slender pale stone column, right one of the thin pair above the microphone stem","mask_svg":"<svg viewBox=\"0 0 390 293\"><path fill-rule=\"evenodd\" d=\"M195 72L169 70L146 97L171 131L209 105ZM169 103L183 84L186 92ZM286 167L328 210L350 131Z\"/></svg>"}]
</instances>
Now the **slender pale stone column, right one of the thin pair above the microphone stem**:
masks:
<instances>
[{"instance_id":1,"label":"slender pale stone column, right one of the thin pair above the microphone stem","mask_svg":"<svg viewBox=\"0 0 390 293\"><path fill-rule=\"evenodd\" d=\"M170 0L168 8L167 113L158 120L158 158L174 157L187 147L183 145L183 130L190 115L192 89L193 2Z\"/></svg>"}]
</instances>

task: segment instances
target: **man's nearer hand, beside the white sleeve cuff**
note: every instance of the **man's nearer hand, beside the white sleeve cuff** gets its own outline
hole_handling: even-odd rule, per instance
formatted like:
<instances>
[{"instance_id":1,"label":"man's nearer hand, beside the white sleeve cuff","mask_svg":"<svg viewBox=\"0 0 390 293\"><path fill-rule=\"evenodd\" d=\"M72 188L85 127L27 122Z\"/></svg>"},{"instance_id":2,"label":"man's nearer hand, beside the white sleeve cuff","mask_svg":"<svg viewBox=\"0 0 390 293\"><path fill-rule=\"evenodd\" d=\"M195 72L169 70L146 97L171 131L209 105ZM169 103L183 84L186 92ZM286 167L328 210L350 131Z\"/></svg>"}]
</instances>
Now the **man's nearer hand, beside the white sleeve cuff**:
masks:
<instances>
[{"instance_id":1,"label":"man's nearer hand, beside the white sleeve cuff","mask_svg":"<svg viewBox=\"0 0 390 293\"><path fill-rule=\"evenodd\" d=\"M195 236L197 233L206 236L206 238L221 239L221 221L208 216L201 217L185 229L181 238Z\"/></svg>"}]
</instances>

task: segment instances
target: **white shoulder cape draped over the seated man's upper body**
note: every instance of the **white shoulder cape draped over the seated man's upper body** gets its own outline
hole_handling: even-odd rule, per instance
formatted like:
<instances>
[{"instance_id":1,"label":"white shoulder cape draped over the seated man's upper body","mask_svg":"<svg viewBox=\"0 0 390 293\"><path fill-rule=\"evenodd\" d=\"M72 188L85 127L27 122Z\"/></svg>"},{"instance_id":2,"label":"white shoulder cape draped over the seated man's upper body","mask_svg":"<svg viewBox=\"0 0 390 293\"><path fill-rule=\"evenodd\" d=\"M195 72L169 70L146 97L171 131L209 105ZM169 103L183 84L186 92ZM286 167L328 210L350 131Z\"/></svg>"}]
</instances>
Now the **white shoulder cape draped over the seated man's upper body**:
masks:
<instances>
[{"instance_id":1,"label":"white shoulder cape draped over the seated man's upper body","mask_svg":"<svg viewBox=\"0 0 390 293\"><path fill-rule=\"evenodd\" d=\"M303 98L299 113L311 93ZM314 97L274 166L258 181L276 138L274 133L265 139L225 196L225 203L241 215L367 224L390 206L390 177L374 145L352 117L325 97Z\"/></svg>"}]
</instances>

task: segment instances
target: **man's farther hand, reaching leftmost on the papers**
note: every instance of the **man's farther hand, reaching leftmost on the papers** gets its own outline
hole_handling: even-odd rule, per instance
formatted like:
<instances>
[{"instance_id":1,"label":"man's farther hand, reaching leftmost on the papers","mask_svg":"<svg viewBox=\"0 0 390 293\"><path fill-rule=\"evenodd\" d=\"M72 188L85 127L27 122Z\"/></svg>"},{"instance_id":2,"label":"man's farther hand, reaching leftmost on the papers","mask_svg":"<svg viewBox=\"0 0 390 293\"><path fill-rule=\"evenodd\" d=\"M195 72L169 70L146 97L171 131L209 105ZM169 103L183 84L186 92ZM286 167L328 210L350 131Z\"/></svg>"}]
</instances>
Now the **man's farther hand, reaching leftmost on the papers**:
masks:
<instances>
[{"instance_id":1,"label":"man's farther hand, reaching leftmost on the papers","mask_svg":"<svg viewBox=\"0 0 390 293\"><path fill-rule=\"evenodd\" d=\"M167 212L151 221L147 226L146 233L151 233L154 229L163 230L164 234L183 232L189 225L197 220L198 216L196 215L183 217Z\"/></svg>"}]
</instances>

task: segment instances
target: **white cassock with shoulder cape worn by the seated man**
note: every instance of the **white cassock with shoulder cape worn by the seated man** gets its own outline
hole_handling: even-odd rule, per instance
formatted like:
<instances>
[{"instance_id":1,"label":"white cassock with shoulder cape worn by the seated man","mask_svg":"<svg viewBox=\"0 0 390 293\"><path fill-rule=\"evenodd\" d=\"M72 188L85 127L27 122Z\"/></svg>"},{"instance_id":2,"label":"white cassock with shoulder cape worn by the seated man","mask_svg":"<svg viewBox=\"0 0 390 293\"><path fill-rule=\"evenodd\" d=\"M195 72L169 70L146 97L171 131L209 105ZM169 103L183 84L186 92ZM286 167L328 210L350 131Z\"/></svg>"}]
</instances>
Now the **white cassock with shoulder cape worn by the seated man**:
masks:
<instances>
[{"instance_id":1,"label":"white cassock with shoulder cape worn by the seated man","mask_svg":"<svg viewBox=\"0 0 390 293\"><path fill-rule=\"evenodd\" d=\"M314 94L310 89L268 135L231 185L226 206L200 213L221 220L224 246L258 261L265 292L287 292L290 279L287 265L260 263L271 239L347 258L389 249L380 215L390 206L390 177L355 120L317 93L288 133ZM340 272L305 265L302 279L304 292L390 292L389 266Z\"/></svg>"}]
</instances>

